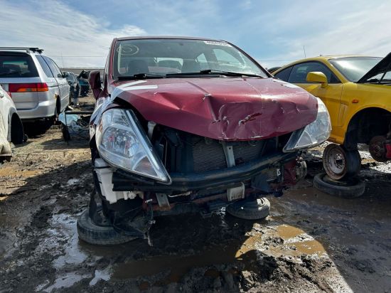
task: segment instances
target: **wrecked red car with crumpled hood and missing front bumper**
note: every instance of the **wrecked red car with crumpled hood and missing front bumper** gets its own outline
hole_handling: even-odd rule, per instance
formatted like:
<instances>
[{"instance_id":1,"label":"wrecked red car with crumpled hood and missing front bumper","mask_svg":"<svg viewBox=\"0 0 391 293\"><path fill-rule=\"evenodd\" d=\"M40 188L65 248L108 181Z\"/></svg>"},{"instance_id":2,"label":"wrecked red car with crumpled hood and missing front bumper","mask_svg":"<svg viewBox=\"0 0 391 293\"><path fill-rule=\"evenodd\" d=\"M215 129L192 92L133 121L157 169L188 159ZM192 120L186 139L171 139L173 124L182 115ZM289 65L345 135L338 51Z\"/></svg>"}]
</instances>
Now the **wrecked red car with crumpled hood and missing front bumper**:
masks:
<instances>
[{"instance_id":1,"label":"wrecked red car with crumpled hood and missing front bumper","mask_svg":"<svg viewBox=\"0 0 391 293\"><path fill-rule=\"evenodd\" d=\"M159 215L265 218L264 196L303 178L301 151L331 131L321 100L226 41L115 38L89 80L97 192L77 230L96 245L151 244Z\"/></svg>"}]
</instances>

